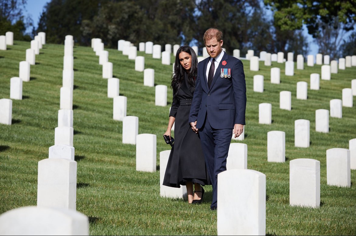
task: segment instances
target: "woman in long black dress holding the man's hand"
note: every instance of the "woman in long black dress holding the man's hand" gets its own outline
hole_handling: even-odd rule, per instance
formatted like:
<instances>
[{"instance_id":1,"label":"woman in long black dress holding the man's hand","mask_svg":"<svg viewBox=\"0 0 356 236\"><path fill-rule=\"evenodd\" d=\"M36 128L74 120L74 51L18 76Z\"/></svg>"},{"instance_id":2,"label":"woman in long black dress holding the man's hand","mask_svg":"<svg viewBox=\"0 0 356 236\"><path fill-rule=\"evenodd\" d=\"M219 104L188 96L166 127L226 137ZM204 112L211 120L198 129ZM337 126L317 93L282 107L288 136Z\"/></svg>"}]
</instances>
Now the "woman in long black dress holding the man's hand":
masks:
<instances>
[{"instance_id":1,"label":"woman in long black dress holding the man's hand","mask_svg":"<svg viewBox=\"0 0 356 236\"><path fill-rule=\"evenodd\" d=\"M201 203L204 195L201 185L211 184L205 167L199 135L192 131L188 122L197 69L198 59L193 48L187 45L180 47L176 54L172 75L172 107L169 113L168 128L164 133L171 137L171 129L175 122L175 141L169 155L163 185L174 188L185 185L189 204Z\"/></svg>"}]
</instances>

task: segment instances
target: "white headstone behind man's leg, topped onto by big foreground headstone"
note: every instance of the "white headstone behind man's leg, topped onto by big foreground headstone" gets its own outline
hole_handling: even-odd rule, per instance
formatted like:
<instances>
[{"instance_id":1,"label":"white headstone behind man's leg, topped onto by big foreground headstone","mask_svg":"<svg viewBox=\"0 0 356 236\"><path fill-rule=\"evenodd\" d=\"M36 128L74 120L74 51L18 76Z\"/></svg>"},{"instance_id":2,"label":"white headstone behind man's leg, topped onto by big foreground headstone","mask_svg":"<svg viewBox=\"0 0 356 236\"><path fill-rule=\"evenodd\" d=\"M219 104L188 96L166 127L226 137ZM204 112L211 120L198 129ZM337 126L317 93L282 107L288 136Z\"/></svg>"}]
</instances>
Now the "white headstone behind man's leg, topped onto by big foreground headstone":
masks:
<instances>
[{"instance_id":1,"label":"white headstone behind man's leg, topped onto by big foreground headstone","mask_svg":"<svg viewBox=\"0 0 356 236\"><path fill-rule=\"evenodd\" d=\"M226 170L247 169L247 144L230 143L226 159Z\"/></svg>"}]
</instances>

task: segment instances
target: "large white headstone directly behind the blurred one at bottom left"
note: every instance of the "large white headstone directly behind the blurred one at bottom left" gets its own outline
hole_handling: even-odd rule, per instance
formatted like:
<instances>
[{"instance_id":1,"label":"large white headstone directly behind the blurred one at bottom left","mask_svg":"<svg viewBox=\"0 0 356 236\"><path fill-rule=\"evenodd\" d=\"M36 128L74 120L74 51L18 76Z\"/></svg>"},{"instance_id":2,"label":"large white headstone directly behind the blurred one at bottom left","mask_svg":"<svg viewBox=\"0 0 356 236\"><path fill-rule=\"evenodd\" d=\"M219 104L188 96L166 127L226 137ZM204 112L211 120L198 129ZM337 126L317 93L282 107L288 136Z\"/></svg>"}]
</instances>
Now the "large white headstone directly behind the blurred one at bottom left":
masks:
<instances>
[{"instance_id":1,"label":"large white headstone directly behind the blurred one at bottom left","mask_svg":"<svg viewBox=\"0 0 356 236\"><path fill-rule=\"evenodd\" d=\"M38 162L37 206L75 210L77 162L47 158Z\"/></svg>"}]
</instances>

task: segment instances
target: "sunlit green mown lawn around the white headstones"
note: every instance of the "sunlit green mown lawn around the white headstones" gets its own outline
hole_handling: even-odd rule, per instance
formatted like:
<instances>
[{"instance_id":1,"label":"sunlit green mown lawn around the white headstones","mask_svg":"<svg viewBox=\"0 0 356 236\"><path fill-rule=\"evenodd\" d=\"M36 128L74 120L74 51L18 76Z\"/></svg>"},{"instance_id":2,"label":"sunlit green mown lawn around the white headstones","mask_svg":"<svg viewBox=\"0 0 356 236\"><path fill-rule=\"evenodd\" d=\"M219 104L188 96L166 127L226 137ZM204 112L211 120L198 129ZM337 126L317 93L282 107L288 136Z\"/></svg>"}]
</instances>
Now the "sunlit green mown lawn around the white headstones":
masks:
<instances>
[{"instance_id":1,"label":"sunlit green mown lawn around the white headstones","mask_svg":"<svg viewBox=\"0 0 356 236\"><path fill-rule=\"evenodd\" d=\"M0 51L0 98L10 98L10 78L19 76L30 42L14 41ZM136 171L136 146L122 143L122 122L112 119L113 100L107 97L107 80L102 78L99 57L91 47L74 47L73 128L77 161L77 211L87 215L90 235L216 235L216 211L211 211L211 186L206 186L203 204L159 195L159 152L170 149L163 140L167 129L172 64L145 56L145 68L155 69L155 85L168 86L166 107L155 106L155 88L143 86L143 72L135 61L116 49L109 51L113 77L120 79L120 95L127 97L127 115L139 117L138 133L157 135L157 171ZM21 206L37 205L38 161L48 158L54 145L60 88L62 87L64 45L45 44L31 65L30 82L23 82L23 100L12 100L12 125L0 124L0 214ZM345 55L346 56L346 55ZM342 107L342 119L330 117L330 132L315 132L315 110L330 109L331 99L341 99L342 89L351 88L356 68L339 70L331 80L320 79L320 90L310 90L311 73L321 65L294 70L281 84L270 83L271 67L260 62L251 72L242 60L247 86L245 140L248 169L266 174L267 235L355 235L356 170L351 170L351 187L326 184L326 150L349 148L356 138L354 107ZM296 63L295 63L296 68ZM253 75L264 76L264 92L253 92ZM308 100L296 99L296 85L308 82ZM279 109L279 92L292 92L292 110ZM258 123L258 104L272 104L272 124ZM294 147L294 120L310 121L310 147ZM267 162L267 132L286 132L286 162ZM174 132L173 132L174 136ZM289 205L289 161L312 158L320 161L320 208Z\"/></svg>"}]
</instances>

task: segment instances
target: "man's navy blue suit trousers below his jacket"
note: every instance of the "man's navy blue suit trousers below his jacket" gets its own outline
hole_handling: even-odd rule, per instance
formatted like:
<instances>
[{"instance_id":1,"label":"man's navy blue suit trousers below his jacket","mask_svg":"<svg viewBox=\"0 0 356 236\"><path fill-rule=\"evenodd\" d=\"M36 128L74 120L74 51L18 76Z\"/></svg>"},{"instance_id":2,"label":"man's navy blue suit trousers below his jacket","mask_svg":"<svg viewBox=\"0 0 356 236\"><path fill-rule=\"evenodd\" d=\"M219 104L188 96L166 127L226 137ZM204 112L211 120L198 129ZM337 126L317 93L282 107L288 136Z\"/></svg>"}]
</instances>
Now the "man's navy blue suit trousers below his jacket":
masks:
<instances>
[{"instance_id":1,"label":"man's navy blue suit trousers below his jacket","mask_svg":"<svg viewBox=\"0 0 356 236\"><path fill-rule=\"evenodd\" d=\"M200 142L203 147L206 168L213 185L213 202L210 207L216 207L218 202L218 174L226 171L226 159L229 152L232 129L213 129L209 116L199 129Z\"/></svg>"}]
</instances>

